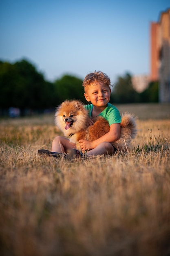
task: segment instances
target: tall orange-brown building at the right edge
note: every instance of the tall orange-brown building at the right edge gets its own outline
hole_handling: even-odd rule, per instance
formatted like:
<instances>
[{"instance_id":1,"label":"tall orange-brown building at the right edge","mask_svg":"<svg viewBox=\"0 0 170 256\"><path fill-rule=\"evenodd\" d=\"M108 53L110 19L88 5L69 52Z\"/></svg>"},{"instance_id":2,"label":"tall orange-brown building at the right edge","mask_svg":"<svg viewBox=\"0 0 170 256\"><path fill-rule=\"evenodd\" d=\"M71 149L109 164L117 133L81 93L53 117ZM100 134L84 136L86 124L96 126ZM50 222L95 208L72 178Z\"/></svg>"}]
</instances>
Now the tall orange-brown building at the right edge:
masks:
<instances>
[{"instance_id":1,"label":"tall orange-brown building at the right edge","mask_svg":"<svg viewBox=\"0 0 170 256\"><path fill-rule=\"evenodd\" d=\"M150 81L159 80L159 102L170 102L170 9L150 26Z\"/></svg>"}]
</instances>

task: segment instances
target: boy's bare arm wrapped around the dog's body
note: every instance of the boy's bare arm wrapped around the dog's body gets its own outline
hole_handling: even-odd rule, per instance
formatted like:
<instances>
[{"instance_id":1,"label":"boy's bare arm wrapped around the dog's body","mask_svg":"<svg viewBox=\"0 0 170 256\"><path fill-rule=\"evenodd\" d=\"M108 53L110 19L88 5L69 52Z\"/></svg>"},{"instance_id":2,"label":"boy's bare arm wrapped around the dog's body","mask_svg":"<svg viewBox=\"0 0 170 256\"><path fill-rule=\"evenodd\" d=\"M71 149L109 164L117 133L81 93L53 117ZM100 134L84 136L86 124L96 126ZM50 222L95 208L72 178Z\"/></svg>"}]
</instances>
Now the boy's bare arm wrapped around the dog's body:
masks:
<instances>
[{"instance_id":1,"label":"boy's bare arm wrapped around the dog's body","mask_svg":"<svg viewBox=\"0 0 170 256\"><path fill-rule=\"evenodd\" d=\"M94 141L87 141L84 139L79 140L80 147L82 148L82 151L90 150L95 148L100 143L106 141L106 142L114 142L120 137L120 124L111 124L110 125L110 131L100 137L99 139L96 139Z\"/></svg>"}]
</instances>

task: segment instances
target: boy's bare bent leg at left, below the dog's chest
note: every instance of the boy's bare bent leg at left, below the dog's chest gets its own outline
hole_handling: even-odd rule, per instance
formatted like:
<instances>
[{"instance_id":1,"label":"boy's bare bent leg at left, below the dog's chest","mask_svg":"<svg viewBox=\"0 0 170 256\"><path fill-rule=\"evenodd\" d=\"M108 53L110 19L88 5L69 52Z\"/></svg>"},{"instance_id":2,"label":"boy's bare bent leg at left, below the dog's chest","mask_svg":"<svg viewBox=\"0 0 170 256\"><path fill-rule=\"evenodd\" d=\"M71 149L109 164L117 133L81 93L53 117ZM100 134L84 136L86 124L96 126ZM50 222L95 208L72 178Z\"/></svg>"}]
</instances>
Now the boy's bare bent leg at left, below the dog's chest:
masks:
<instances>
[{"instance_id":1,"label":"boy's bare bent leg at left, below the dog's chest","mask_svg":"<svg viewBox=\"0 0 170 256\"><path fill-rule=\"evenodd\" d=\"M53 139L51 151L58 153L68 153L69 150L73 148L75 148L75 144L70 143L69 139L57 136L55 139Z\"/></svg>"}]
</instances>

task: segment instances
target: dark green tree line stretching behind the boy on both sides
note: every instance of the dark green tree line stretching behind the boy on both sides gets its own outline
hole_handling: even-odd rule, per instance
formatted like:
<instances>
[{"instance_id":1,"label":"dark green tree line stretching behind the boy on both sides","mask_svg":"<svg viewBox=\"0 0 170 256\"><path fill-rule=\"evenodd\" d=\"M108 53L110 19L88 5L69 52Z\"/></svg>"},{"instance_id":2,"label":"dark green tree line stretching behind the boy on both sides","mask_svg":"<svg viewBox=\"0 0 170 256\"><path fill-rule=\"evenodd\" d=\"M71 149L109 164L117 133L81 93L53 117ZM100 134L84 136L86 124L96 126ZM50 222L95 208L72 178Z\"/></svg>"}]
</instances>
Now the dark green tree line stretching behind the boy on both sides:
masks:
<instances>
[{"instance_id":1,"label":"dark green tree line stretching behind the boy on both sides","mask_svg":"<svg viewBox=\"0 0 170 256\"><path fill-rule=\"evenodd\" d=\"M0 110L10 107L33 111L55 109L66 99L84 99L82 79L64 75L53 83L46 81L36 67L23 59L15 63L0 61ZM111 103L158 102L158 82L150 83L142 93L136 92L131 83L130 74L118 77L113 87Z\"/></svg>"}]
</instances>

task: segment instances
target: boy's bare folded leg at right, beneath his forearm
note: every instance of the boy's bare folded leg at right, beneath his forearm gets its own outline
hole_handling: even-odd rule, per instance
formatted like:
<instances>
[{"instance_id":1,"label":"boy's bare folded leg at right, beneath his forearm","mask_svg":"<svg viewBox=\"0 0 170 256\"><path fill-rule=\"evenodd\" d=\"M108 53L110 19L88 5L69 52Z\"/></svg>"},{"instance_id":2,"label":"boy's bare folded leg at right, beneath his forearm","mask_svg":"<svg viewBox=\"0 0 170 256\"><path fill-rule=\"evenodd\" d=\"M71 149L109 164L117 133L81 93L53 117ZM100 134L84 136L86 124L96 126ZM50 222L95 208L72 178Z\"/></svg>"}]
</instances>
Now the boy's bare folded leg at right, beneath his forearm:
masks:
<instances>
[{"instance_id":1,"label":"boy's bare folded leg at right, beneath his forearm","mask_svg":"<svg viewBox=\"0 0 170 256\"><path fill-rule=\"evenodd\" d=\"M97 147L87 152L87 157L91 155L110 155L115 152L110 142L102 142Z\"/></svg>"}]
</instances>

